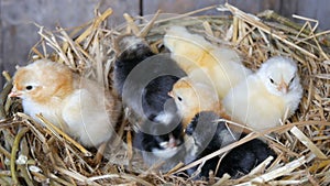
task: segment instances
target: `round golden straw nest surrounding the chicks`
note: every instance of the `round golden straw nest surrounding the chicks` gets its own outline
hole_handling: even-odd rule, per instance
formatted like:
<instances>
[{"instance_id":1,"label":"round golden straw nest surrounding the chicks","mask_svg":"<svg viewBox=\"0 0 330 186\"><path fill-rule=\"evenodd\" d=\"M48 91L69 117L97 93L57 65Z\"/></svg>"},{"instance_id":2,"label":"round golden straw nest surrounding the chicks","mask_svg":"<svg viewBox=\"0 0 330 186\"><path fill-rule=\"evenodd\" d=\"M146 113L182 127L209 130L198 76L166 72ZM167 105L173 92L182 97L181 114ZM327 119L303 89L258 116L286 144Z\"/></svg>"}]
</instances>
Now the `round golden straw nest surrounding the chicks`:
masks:
<instances>
[{"instance_id":1,"label":"round golden straw nest surrounding the chicks","mask_svg":"<svg viewBox=\"0 0 330 186\"><path fill-rule=\"evenodd\" d=\"M194 17L209 9L231 14ZM264 168L270 162L267 160L240 179L211 176L209 182L202 182L153 169L139 172L132 163L136 156L132 154L131 124L123 119L118 124L118 134L127 143L113 147L110 158L95 165L90 163L94 150L70 142L48 124L42 128L38 122L43 118L35 122L20 112L20 102L7 98L11 77L4 73L8 84L0 99L0 185L329 185L330 39L329 31L317 31L316 20L297 17L305 21L300 25L272 11L252 15L224 4L167 18L160 12L150 19L124 14L127 24L108 29L107 19L111 14L111 9L105 12L96 10L96 17L89 23L74 29L57 28L52 32L37 25L41 40L31 50L31 59L48 57L64 63L74 72L97 79L111 89L111 70L116 61L113 40L130 32L145 37L154 52L160 52L164 29L173 24L204 34L215 44L237 48L244 64L252 69L257 69L270 56L290 56L299 66L304 97L294 117L284 118L282 127L267 131L277 134L277 139L266 140L278 157L268 168ZM211 155L262 135L252 133ZM119 141L111 143L121 144Z\"/></svg>"}]
</instances>

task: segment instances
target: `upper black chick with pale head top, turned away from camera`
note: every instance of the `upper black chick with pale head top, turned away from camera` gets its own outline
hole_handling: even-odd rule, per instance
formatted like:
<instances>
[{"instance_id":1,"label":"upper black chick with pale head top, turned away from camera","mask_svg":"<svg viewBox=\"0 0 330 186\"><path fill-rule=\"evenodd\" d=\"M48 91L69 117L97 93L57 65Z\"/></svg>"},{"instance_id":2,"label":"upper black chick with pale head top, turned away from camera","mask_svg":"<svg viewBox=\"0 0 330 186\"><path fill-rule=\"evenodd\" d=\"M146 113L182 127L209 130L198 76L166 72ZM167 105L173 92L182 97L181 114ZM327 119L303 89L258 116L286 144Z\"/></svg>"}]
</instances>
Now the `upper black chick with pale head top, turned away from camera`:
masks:
<instances>
[{"instance_id":1,"label":"upper black chick with pale head top, turned away from camera","mask_svg":"<svg viewBox=\"0 0 330 186\"><path fill-rule=\"evenodd\" d=\"M176 106L167 94L185 72L168 55L153 54L140 37L125 35L117 43L114 85L122 102L139 120L169 122Z\"/></svg>"}]
</instances>

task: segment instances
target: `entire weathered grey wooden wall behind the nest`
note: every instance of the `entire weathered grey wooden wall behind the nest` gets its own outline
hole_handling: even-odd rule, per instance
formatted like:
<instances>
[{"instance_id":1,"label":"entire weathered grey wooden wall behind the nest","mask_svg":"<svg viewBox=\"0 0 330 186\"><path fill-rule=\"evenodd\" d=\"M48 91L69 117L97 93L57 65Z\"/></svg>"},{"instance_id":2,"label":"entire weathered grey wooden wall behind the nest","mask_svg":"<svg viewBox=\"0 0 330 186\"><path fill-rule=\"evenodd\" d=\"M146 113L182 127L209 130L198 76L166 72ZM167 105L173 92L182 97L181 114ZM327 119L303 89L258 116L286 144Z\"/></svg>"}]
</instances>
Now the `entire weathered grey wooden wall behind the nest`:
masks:
<instances>
[{"instance_id":1,"label":"entire weathered grey wooden wall behind the nest","mask_svg":"<svg viewBox=\"0 0 330 186\"><path fill-rule=\"evenodd\" d=\"M54 30L77 26L94 18L94 9L111 7L114 14L110 26L123 23L122 14L153 14L158 9L167 13L185 13L202 7L224 3L226 0L0 0L0 72L14 72L15 65L25 65L30 48L38 41L34 23ZM245 12L257 13L272 9L292 19L299 14L317 19L320 29L330 29L328 0L228 0ZM208 11L206 14L219 14ZM3 79L0 78L2 87Z\"/></svg>"}]
</instances>

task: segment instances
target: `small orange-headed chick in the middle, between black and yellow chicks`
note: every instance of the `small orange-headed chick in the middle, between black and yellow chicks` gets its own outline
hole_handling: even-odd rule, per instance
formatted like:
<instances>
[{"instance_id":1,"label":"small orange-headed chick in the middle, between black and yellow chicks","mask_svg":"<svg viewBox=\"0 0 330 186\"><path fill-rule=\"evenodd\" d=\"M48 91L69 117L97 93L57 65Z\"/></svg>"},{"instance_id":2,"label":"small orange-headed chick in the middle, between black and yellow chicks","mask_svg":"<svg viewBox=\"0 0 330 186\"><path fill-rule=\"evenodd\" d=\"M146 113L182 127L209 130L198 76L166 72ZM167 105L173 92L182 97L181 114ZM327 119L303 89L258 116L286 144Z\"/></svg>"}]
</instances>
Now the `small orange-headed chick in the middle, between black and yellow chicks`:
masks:
<instances>
[{"instance_id":1,"label":"small orange-headed chick in the middle, between black and yellow chicks","mask_svg":"<svg viewBox=\"0 0 330 186\"><path fill-rule=\"evenodd\" d=\"M207 84L196 83L189 77L184 77L174 84L168 95L175 100L184 129L201 111L213 111L223 116L216 89Z\"/></svg>"}]
</instances>

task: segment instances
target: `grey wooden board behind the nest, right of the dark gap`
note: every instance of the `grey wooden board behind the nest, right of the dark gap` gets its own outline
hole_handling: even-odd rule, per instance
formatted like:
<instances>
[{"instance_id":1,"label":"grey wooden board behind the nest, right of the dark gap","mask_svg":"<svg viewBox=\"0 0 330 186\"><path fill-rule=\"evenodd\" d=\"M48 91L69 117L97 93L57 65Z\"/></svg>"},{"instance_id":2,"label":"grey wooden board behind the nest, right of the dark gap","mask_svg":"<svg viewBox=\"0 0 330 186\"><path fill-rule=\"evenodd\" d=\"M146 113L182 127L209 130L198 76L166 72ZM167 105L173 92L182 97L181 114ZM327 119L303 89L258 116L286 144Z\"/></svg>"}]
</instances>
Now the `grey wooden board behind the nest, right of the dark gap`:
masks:
<instances>
[{"instance_id":1,"label":"grey wooden board behind the nest, right of the dark gap","mask_svg":"<svg viewBox=\"0 0 330 186\"><path fill-rule=\"evenodd\" d=\"M164 13L186 13L204 7L223 4L226 2L227 0L143 0L143 13L153 14L158 9ZM330 13L329 0L318 0L317 2L315 0L229 0L228 2L246 13L258 13L267 9L274 10L296 22L299 22L299 20L293 19L292 15L299 14L318 20L320 23L319 29L321 30L330 29L330 19L327 18ZM221 14L221 12L213 10L202 12L202 14Z\"/></svg>"}]
</instances>

